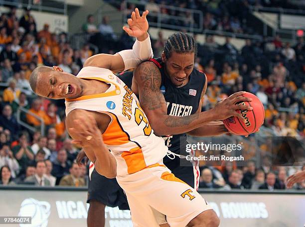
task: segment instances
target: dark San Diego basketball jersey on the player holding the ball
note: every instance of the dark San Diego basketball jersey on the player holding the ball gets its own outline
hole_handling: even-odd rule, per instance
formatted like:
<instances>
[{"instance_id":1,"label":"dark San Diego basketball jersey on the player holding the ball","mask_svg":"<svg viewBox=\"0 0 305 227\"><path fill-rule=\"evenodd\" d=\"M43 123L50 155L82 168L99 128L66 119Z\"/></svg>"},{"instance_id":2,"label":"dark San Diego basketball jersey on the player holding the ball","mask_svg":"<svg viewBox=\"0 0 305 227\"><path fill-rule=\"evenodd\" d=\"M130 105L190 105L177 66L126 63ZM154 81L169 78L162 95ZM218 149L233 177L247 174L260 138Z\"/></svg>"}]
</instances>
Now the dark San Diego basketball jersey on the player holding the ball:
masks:
<instances>
[{"instance_id":1,"label":"dark San Diego basketball jersey on the player holding the ball","mask_svg":"<svg viewBox=\"0 0 305 227\"><path fill-rule=\"evenodd\" d=\"M166 76L161 58L152 58L149 61L153 62L161 73L160 92L163 94L166 102L167 114L171 116L188 116L195 114L198 110L201 93L205 84L204 73L193 69L189 76L188 83L183 87L177 88ZM122 73L119 78L131 88L132 75L132 72L126 72ZM165 145L171 152L181 155L188 155L185 152L185 145L187 143L186 133L166 135L162 137ZM176 156L173 160L165 156L163 162L170 169L171 167L179 166L179 158Z\"/></svg>"}]
</instances>

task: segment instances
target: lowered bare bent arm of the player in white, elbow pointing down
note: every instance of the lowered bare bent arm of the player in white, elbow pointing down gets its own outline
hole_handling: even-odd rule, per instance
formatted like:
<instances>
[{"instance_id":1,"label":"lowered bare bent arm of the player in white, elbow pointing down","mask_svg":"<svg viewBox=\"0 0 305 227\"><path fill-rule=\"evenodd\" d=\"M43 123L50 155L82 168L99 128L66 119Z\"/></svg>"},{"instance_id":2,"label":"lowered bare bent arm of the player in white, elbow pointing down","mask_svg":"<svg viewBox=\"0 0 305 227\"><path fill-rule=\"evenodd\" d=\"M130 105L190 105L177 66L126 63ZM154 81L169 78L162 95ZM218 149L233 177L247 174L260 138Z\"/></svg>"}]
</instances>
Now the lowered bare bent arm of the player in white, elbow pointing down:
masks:
<instances>
[{"instance_id":1,"label":"lowered bare bent arm of the player in white, elbow pointing down","mask_svg":"<svg viewBox=\"0 0 305 227\"><path fill-rule=\"evenodd\" d=\"M73 143L83 147L87 157L94 163L96 171L107 178L115 178L117 162L103 142L100 127L104 126L97 123L98 117L98 113L74 110L66 118L66 127Z\"/></svg>"}]
</instances>

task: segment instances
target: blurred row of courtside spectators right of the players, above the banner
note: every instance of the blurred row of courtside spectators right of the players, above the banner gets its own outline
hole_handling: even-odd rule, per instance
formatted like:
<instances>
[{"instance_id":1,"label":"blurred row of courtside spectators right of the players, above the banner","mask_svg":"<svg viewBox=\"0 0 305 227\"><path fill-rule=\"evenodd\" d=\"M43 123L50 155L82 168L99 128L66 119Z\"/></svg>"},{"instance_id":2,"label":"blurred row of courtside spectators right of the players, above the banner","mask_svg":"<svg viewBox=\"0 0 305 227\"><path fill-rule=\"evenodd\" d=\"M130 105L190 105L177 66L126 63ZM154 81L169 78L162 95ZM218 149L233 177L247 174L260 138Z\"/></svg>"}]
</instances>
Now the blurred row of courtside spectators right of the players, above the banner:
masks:
<instances>
[{"instance_id":1,"label":"blurred row of courtside spectators right of the players, above the banner","mask_svg":"<svg viewBox=\"0 0 305 227\"><path fill-rule=\"evenodd\" d=\"M248 161L242 168L237 168L234 162L226 162L221 167L209 165L200 169L199 188L219 190L283 190L287 188L288 176L300 171L295 167L272 168L270 163L256 168L254 161ZM305 170L305 165L302 170ZM305 182L295 184L293 189L305 189Z\"/></svg>"}]
</instances>

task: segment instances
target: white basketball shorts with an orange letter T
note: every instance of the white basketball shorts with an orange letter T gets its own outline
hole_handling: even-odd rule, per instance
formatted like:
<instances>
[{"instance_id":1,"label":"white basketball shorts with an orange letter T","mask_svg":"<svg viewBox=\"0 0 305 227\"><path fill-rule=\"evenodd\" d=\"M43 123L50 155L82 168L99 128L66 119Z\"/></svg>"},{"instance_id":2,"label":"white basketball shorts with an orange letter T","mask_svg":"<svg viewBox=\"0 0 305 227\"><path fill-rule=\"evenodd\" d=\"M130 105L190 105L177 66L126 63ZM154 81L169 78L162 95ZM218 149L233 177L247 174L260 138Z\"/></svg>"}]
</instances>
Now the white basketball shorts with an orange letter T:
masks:
<instances>
[{"instance_id":1,"label":"white basketball shorts with an orange letter T","mask_svg":"<svg viewBox=\"0 0 305 227\"><path fill-rule=\"evenodd\" d=\"M166 216L170 227L185 227L197 215L212 209L195 189L166 167L147 168L117 180L126 192L134 227L158 227L155 211Z\"/></svg>"}]
</instances>

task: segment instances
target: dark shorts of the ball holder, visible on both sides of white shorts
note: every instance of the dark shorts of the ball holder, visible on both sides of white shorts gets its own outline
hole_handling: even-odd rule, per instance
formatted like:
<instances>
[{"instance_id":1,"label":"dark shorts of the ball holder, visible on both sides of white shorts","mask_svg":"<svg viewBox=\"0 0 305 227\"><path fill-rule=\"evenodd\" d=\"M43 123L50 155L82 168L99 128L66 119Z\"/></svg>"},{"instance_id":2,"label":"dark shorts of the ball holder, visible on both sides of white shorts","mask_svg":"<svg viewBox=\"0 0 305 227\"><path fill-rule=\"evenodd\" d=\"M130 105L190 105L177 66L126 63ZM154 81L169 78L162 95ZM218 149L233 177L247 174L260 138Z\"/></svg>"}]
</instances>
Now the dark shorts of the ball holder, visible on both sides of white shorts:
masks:
<instances>
[{"instance_id":1,"label":"dark shorts of the ball holder, visible on both sides of white shorts","mask_svg":"<svg viewBox=\"0 0 305 227\"><path fill-rule=\"evenodd\" d=\"M199 186L199 167L168 165L171 172L180 180L194 189ZM119 207L120 210L130 210L124 190L117 180L100 175L95 169L89 181L88 200L97 200L108 207Z\"/></svg>"}]
</instances>

